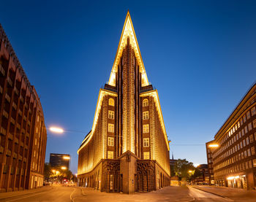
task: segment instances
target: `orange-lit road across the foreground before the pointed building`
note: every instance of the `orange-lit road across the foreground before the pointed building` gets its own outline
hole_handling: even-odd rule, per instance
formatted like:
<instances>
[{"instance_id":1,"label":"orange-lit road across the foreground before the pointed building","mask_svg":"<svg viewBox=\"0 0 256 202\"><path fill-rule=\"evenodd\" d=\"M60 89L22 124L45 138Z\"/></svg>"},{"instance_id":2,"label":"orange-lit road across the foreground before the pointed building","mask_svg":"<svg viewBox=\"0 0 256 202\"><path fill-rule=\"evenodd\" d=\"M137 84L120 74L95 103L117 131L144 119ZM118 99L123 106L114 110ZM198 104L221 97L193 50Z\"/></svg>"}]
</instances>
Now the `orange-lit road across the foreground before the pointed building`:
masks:
<instances>
[{"instance_id":1,"label":"orange-lit road across the foreground before the pointed building","mask_svg":"<svg viewBox=\"0 0 256 202\"><path fill-rule=\"evenodd\" d=\"M0 194L1 196L1 194ZM12 195L1 201L15 202L164 202L164 201L230 201L229 199L206 193L192 187L165 187L151 193L135 193L126 195L121 193L101 193L97 190L82 187L50 187L37 193L26 193L24 195ZM232 200L231 200L232 201Z\"/></svg>"}]
</instances>

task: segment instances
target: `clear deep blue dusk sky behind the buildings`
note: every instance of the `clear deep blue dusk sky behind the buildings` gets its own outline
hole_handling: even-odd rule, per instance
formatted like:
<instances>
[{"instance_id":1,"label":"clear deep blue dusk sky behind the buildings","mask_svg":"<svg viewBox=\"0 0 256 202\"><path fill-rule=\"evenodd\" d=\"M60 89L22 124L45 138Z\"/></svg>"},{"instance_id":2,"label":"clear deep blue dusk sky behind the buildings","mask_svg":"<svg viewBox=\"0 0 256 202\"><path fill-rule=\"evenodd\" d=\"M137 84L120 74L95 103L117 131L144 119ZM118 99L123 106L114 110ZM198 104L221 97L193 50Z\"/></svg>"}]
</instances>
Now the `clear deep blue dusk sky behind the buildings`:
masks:
<instances>
[{"instance_id":1,"label":"clear deep blue dusk sky behind the buildings","mask_svg":"<svg viewBox=\"0 0 256 202\"><path fill-rule=\"evenodd\" d=\"M69 130L48 131L45 162L50 152L67 153L77 172L127 9L174 158L206 163L206 141L255 82L256 1L1 1L0 23L46 127Z\"/></svg>"}]
</instances>

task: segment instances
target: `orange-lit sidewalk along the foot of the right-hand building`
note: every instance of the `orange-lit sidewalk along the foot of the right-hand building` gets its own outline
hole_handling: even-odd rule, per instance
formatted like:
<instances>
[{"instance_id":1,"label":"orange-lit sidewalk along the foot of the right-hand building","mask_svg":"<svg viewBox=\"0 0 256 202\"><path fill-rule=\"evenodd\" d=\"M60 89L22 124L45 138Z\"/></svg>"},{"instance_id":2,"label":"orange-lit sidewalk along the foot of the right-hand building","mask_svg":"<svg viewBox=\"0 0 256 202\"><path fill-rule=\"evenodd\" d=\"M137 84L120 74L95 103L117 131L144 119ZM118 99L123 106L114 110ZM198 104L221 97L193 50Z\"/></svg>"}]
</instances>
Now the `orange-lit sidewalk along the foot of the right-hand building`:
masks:
<instances>
[{"instance_id":1,"label":"orange-lit sidewalk along the foot of the right-hand building","mask_svg":"<svg viewBox=\"0 0 256 202\"><path fill-rule=\"evenodd\" d=\"M220 195L225 198L233 199L234 201L255 201L256 191L248 191L239 188L231 187L215 187L207 185L192 185L198 190L203 190L208 193Z\"/></svg>"}]
</instances>

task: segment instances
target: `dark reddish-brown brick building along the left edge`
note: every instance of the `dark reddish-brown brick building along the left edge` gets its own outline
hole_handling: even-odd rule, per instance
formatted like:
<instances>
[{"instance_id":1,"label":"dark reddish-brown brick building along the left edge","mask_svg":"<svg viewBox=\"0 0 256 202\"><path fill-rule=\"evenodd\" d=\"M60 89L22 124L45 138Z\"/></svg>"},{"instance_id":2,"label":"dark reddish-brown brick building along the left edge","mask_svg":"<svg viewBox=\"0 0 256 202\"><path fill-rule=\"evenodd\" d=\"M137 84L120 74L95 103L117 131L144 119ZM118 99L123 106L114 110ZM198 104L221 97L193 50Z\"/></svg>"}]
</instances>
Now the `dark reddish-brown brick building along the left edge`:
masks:
<instances>
[{"instance_id":1,"label":"dark reddish-brown brick building along the left edge","mask_svg":"<svg viewBox=\"0 0 256 202\"><path fill-rule=\"evenodd\" d=\"M46 128L39 96L0 25L0 191L42 186Z\"/></svg>"}]
</instances>

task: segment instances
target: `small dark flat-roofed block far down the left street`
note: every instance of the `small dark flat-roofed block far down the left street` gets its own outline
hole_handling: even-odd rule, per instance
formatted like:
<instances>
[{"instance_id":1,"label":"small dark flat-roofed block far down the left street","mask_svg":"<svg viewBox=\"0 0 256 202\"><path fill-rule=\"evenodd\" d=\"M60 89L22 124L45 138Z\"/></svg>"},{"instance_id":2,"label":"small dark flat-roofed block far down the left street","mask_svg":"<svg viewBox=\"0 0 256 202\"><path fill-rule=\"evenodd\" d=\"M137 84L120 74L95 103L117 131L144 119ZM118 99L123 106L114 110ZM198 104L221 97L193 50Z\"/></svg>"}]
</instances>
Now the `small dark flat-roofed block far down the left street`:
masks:
<instances>
[{"instance_id":1,"label":"small dark flat-roofed block far down the left street","mask_svg":"<svg viewBox=\"0 0 256 202\"><path fill-rule=\"evenodd\" d=\"M69 169L70 155L50 153L50 166Z\"/></svg>"}]
</instances>

